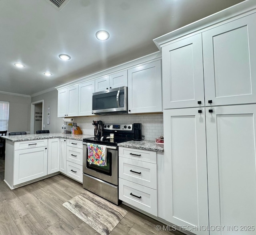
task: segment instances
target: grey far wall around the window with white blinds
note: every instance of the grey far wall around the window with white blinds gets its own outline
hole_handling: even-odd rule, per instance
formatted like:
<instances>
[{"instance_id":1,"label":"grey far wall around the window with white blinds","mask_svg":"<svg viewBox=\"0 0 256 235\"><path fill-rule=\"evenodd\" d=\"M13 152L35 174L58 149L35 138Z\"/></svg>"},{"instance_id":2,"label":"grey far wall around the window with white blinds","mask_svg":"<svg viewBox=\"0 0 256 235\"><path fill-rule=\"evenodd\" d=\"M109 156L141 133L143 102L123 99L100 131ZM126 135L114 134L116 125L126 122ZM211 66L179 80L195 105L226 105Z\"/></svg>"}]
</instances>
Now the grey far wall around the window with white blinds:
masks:
<instances>
[{"instance_id":1,"label":"grey far wall around the window with white blinds","mask_svg":"<svg viewBox=\"0 0 256 235\"><path fill-rule=\"evenodd\" d=\"M30 97L0 93L0 101L9 101L8 132L30 131Z\"/></svg>"}]
</instances>

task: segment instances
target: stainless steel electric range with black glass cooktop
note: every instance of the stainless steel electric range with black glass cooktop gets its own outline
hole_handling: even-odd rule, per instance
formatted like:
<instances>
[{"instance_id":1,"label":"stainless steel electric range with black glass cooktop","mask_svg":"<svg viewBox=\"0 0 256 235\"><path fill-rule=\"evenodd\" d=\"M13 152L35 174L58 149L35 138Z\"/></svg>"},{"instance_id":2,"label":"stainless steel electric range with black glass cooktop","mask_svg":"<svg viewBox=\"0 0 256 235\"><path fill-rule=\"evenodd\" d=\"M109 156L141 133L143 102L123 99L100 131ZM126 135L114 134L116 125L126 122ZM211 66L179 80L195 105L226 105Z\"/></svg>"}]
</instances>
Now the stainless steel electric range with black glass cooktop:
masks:
<instances>
[{"instance_id":1,"label":"stainless steel electric range with black glass cooktop","mask_svg":"<svg viewBox=\"0 0 256 235\"><path fill-rule=\"evenodd\" d=\"M117 144L134 140L134 124L104 124L102 136L83 139L83 188L116 205L119 203ZM110 134L114 134L113 139L110 138ZM101 167L88 163L87 143L106 146L107 166Z\"/></svg>"}]
</instances>

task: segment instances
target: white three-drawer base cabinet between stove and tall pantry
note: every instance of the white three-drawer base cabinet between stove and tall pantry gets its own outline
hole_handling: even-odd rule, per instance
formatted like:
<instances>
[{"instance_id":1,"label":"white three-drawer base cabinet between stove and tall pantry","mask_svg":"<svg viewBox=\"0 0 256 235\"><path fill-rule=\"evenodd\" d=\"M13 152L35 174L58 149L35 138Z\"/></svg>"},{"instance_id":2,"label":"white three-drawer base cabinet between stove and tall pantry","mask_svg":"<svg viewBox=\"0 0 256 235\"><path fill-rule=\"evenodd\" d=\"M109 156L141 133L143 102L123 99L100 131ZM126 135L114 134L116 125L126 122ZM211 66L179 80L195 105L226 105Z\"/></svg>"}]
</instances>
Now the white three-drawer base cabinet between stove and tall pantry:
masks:
<instances>
[{"instance_id":1,"label":"white three-drawer base cabinet between stove and tall pantry","mask_svg":"<svg viewBox=\"0 0 256 235\"><path fill-rule=\"evenodd\" d=\"M119 199L155 216L156 166L156 152L119 147Z\"/></svg>"}]
</instances>

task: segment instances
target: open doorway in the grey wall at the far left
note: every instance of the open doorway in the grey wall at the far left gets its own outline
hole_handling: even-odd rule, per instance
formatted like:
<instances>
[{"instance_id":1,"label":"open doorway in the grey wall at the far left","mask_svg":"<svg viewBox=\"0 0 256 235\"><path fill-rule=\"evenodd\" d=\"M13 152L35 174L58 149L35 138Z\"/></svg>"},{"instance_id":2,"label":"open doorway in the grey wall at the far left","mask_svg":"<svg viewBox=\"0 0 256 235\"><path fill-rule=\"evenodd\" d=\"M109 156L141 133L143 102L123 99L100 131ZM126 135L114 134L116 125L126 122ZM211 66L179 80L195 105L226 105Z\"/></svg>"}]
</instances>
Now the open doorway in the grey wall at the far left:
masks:
<instances>
[{"instance_id":1,"label":"open doorway in the grey wall at the far left","mask_svg":"<svg viewBox=\"0 0 256 235\"><path fill-rule=\"evenodd\" d=\"M30 107L30 134L36 134L37 130L43 130L44 100L31 103Z\"/></svg>"}]
</instances>

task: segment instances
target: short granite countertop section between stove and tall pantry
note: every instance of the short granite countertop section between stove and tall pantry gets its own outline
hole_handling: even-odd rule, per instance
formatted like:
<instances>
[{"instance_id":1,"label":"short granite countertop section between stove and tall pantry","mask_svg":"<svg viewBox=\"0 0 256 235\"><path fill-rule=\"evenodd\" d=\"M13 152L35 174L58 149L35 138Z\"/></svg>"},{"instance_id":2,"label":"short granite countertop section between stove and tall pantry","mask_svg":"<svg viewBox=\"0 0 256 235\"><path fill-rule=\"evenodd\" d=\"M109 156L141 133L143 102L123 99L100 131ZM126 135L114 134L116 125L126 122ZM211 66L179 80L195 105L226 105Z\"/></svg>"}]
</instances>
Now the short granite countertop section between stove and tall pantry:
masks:
<instances>
[{"instance_id":1,"label":"short granite countertop section between stove and tall pantry","mask_svg":"<svg viewBox=\"0 0 256 235\"><path fill-rule=\"evenodd\" d=\"M164 152L163 144L156 144L156 142L150 141L150 140L142 140L142 141L131 140L131 141L120 143L118 144L118 146L150 150L150 151L156 151L156 152Z\"/></svg>"}]
</instances>

